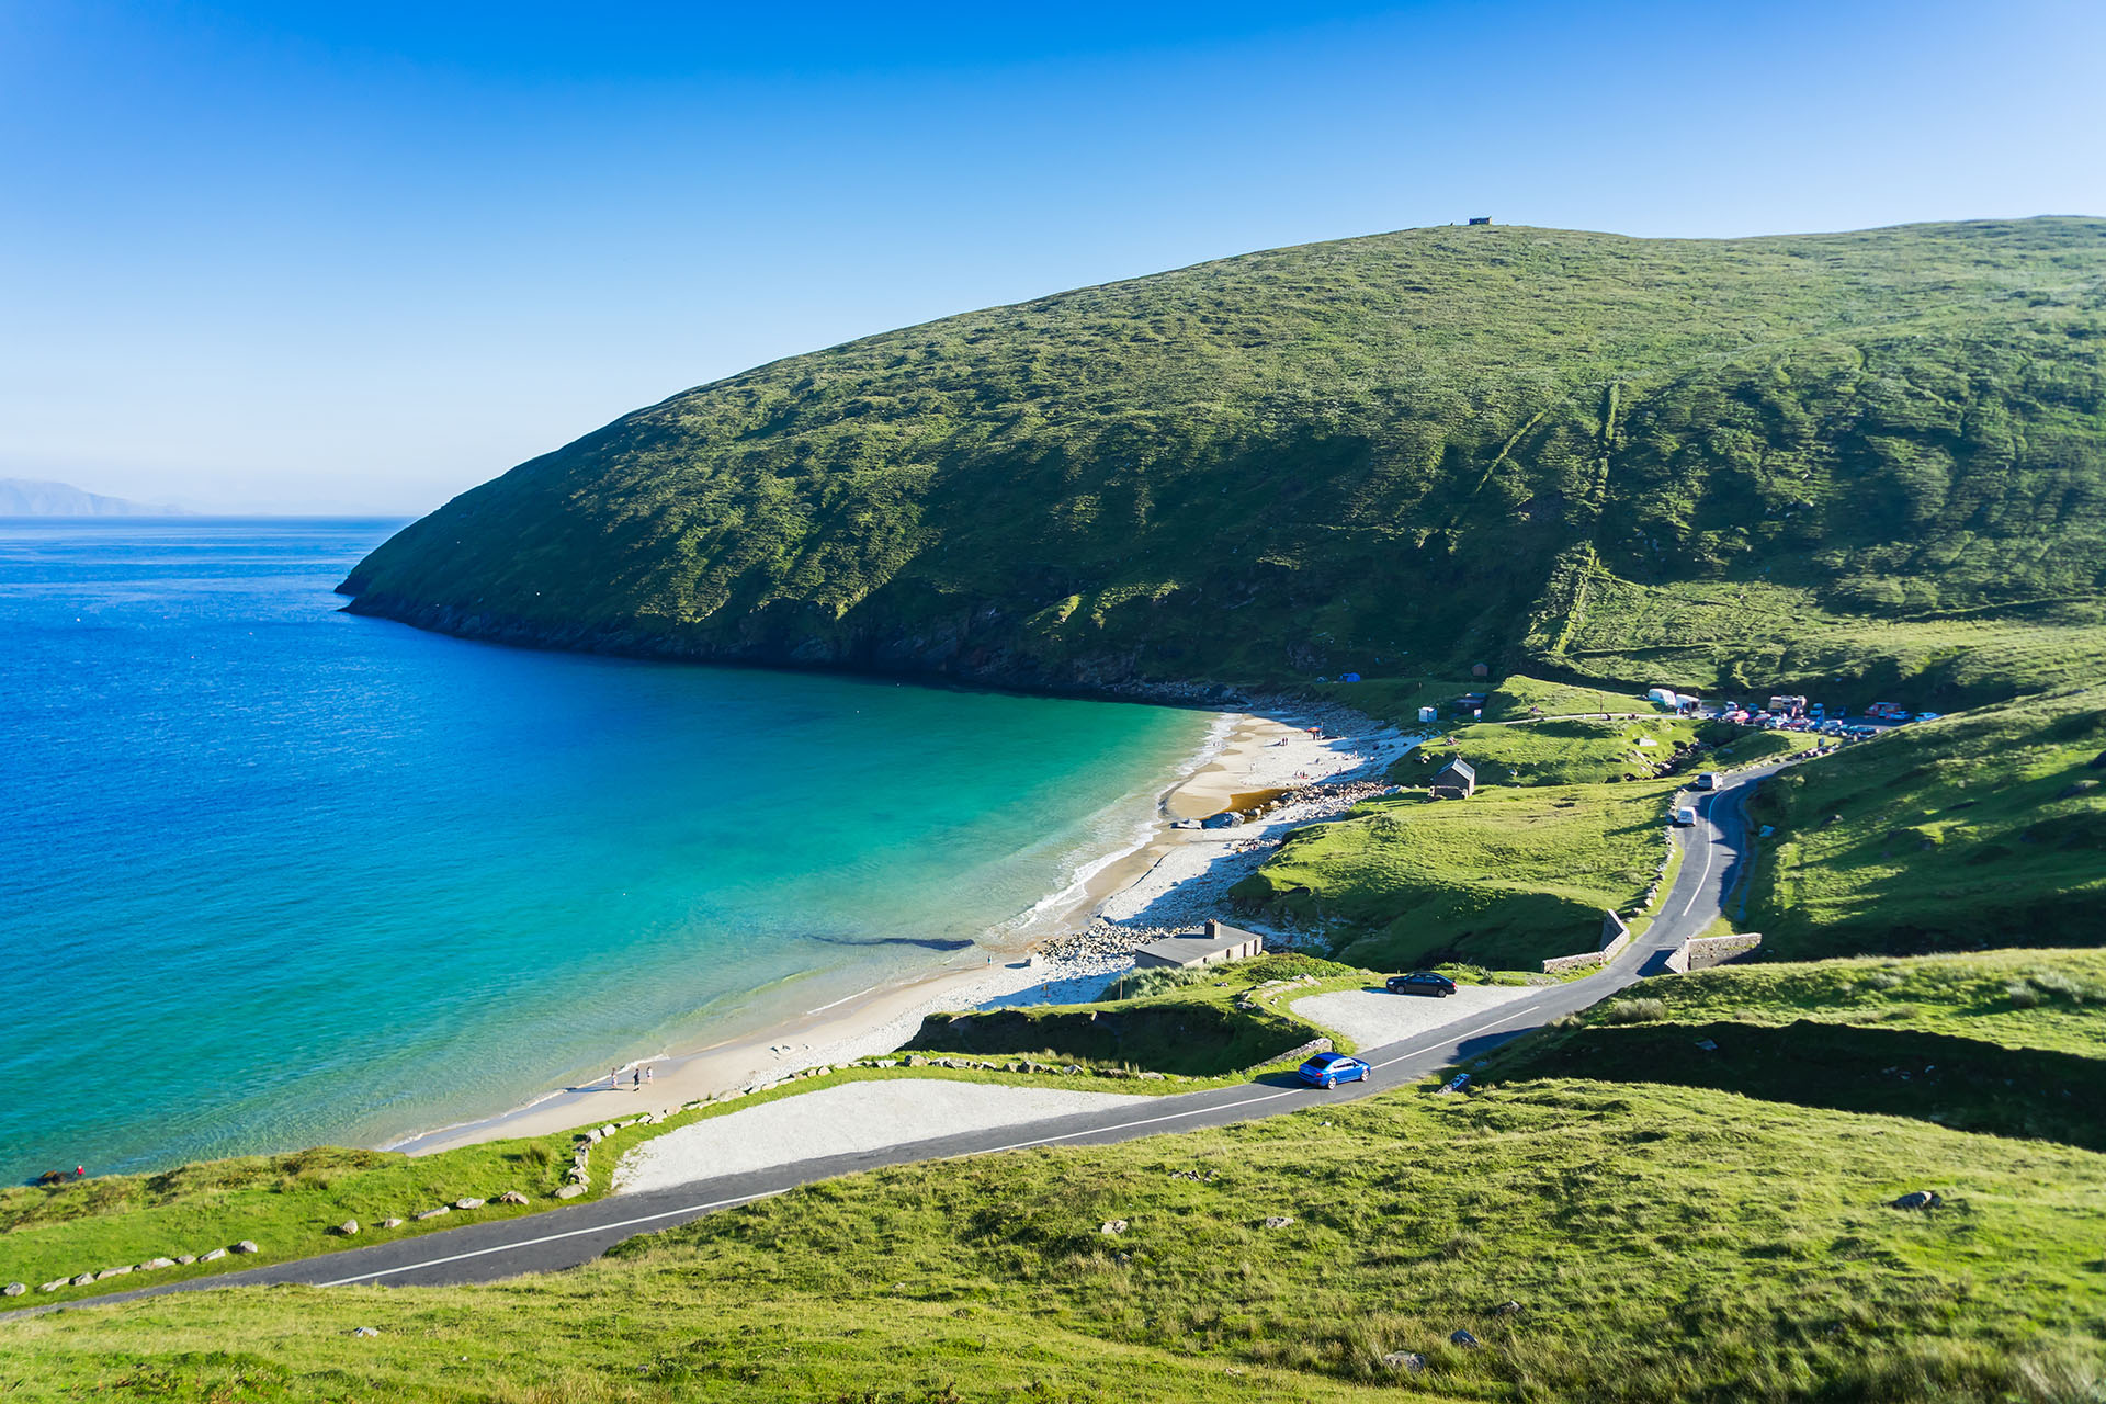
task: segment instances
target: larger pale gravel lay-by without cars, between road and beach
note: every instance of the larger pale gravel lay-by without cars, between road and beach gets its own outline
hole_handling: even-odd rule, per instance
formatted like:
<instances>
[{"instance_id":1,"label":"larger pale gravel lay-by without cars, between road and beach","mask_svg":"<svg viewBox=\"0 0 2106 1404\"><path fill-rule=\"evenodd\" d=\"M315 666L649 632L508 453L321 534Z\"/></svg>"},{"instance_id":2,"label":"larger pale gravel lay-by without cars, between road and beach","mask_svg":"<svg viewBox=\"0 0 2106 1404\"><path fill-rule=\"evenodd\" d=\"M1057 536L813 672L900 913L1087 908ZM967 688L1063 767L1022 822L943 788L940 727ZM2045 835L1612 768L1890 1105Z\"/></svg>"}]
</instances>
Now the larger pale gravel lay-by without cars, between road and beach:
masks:
<instances>
[{"instance_id":1,"label":"larger pale gravel lay-by without cars, between road and beach","mask_svg":"<svg viewBox=\"0 0 2106 1404\"><path fill-rule=\"evenodd\" d=\"M615 1166L615 1194L668 1189L693 1179L874 1151L967 1130L1021 1126L1137 1101L1150 1099L941 1078L842 1082L729 1116L712 1116L644 1141Z\"/></svg>"}]
</instances>

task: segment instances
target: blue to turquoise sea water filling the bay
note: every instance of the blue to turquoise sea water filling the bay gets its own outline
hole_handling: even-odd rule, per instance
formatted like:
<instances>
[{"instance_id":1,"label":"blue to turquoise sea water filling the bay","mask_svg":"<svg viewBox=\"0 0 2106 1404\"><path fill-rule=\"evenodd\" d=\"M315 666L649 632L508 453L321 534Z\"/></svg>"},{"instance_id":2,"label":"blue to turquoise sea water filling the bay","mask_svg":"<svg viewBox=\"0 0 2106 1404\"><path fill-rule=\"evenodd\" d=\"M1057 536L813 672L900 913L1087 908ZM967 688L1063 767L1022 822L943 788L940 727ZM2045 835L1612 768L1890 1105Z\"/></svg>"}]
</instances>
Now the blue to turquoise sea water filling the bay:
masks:
<instances>
[{"instance_id":1,"label":"blue to turquoise sea water filling the bay","mask_svg":"<svg viewBox=\"0 0 2106 1404\"><path fill-rule=\"evenodd\" d=\"M468 644L394 522L0 522L0 1179L377 1145L933 966L1207 716Z\"/></svg>"}]
</instances>

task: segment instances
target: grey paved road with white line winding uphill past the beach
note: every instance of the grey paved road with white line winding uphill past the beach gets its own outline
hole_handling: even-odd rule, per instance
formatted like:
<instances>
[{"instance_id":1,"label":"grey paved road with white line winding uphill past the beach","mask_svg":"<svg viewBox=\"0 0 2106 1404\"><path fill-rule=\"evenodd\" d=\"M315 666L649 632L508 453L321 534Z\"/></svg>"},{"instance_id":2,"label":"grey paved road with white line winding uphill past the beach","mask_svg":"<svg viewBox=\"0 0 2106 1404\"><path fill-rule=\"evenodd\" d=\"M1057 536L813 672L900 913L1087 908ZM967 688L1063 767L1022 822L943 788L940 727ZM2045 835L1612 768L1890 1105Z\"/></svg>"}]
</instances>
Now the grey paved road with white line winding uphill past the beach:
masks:
<instances>
[{"instance_id":1,"label":"grey paved road with white line winding uphill past the beach","mask_svg":"<svg viewBox=\"0 0 2106 1404\"><path fill-rule=\"evenodd\" d=\"M1558 1015L1586 1008L1641 975L1664 968L1662 962L1676 945L1710 926L1725 897L1740 880L1740 867L1752 848L1748 842L1746 798L1761 779L1775 775L1780 768L1773 764L1746 770L1731 777L1723 789L1697 798L1700 823L1693 829L1676 829L1685 859L1674 886L1668 890L1660 920L1641 939L1632 941L1609 968L1563 985L1546 985L1542 994L1502 1004L1495 1010L1483 1010L1483 1017L1474 1023L1459 1021L1384 1048L1363 1050L1363 1057L1375 1067L1371 1082L1318 1092L1289 1078L1261 1078L1240 1086L1156 1097L1141 1107L1125 1105L1034 1122L1030 1126L935 1137L878 1151L804 1160L773 1170L724 1175L651 1194L613 1196L522 1219L463 1225L392 1244L350 1248L297 1263L221 1273L217 1278L194 1278L190 1282L114 1292L88 1301L128 1301L162 1292L276 1282L301 1282L310 1286L347 1286L352 1282L381 1282L388 1286L491 1282L526 1271L577 1267L607 1252L623 1238L670 1229L718 1208L750 1204L752 1200L783 1194L786 1189L834 1175L916 1160L994 1156L1034 1145L1110 1145L1167 1130L1228 1126L1230 1122L1247 1122L1259 1116L1278 1116L1312 1105L1369 1097L1371 1092L1413 1082L1453 1063L1468 1063L1483 1057L1510 1038L1527 1034ZM67 1305L80 1303L32 1307L32 1311L55 1311Z\"/></svg>"}]
</instances>

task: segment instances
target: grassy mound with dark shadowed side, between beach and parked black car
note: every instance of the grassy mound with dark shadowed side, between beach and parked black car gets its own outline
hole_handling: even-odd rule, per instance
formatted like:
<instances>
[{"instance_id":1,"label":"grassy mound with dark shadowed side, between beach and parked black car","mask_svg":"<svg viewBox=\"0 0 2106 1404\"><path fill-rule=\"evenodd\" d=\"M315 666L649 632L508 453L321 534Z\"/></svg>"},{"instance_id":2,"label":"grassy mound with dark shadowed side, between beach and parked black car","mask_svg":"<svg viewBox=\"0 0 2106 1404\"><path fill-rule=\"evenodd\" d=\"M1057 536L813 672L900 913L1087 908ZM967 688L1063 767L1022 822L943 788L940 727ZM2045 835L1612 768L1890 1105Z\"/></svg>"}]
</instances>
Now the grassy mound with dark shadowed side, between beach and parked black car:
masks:
<instances>
[{"instance_id":1,"label":"grassy mound with dark shadowed side, between beach and parked black car","mask_svg":"<svg viewBox=\"0 0 2106 1404\"><path fill-rule=\"evenodd\" d=\"M1308 956L1264 956L1198 970L1148 970L1141 979L1152 989L1139 998L929 1015L906 1046L1221 1078L1264 1067L1289 1048L1329 1034L1274 1008L1272 1000L1255 991L1264 981L1302 975L1348 979L1354 985L1367 977L1365 970ZM1335 1036L1333 1042L1352 1050Z\"/></svg>"}]
</instances>

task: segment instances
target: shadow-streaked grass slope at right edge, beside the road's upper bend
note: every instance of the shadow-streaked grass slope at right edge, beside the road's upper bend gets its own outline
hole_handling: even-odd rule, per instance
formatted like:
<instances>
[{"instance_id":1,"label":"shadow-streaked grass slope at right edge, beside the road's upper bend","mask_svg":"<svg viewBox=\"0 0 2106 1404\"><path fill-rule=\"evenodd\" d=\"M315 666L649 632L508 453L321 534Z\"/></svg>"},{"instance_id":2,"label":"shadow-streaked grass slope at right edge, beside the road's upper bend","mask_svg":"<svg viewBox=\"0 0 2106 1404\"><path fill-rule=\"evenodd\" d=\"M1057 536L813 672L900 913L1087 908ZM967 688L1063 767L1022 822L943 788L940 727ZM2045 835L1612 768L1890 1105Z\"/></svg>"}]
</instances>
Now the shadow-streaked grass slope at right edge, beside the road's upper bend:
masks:
<instances>
[{"instance_id":1,"label":"shadow-streaked grass slope at right edge, beside the road's upper bend","mask_svg":"<svg viewBox=\"0 0 2106 1404\"><path fill-rule=\"evenodd\" d=\"M1748 926L1780 958L2102 945L2106 688L1904 726L1765 783Z\"/></svg>"}]
</instances>

